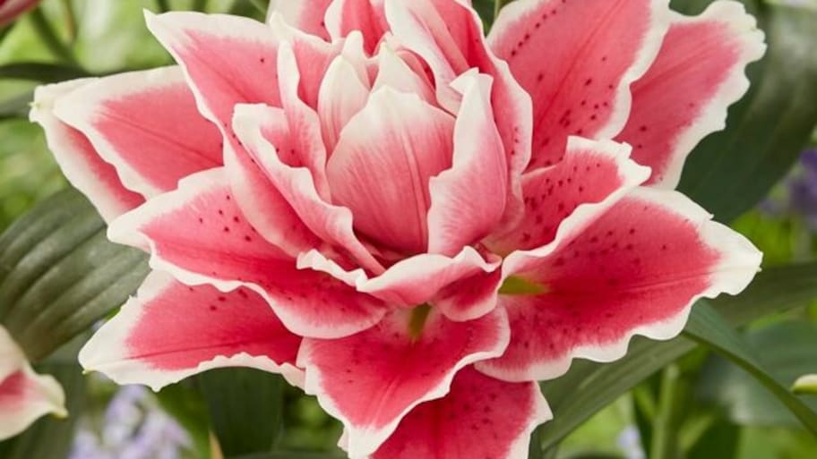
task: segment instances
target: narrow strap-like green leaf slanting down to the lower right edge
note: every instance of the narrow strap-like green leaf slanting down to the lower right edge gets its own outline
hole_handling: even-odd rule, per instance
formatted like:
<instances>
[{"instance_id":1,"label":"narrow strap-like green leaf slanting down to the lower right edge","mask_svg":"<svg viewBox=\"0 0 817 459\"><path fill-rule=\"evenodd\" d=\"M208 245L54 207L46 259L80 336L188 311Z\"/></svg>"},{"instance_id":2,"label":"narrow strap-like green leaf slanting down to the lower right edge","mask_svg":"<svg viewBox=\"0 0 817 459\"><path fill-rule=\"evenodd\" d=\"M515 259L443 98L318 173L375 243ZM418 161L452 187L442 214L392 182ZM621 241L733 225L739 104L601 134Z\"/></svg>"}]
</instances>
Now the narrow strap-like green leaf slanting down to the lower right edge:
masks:
<instances>
[{"instance_id":1,"label":"narrow strap-like green leaf slanting down to the lower right edge","mask_svg":"<svg viewBox=\"0 0 817 459\"><path fill-rule=\"evenodd\" d=\"M750 373L763 386L786 404L788 410L799 419L806 429L817 435L817 412L804 404L803 400L789 392L787 386L781 384L765 365L759 361L740 335L731 327L717 310L708 304L699 304L695 314L690 318L684 334L690 336L700 344L704 344L720 353L729 361L735 363Z\"/></svg>"}]
</instances>

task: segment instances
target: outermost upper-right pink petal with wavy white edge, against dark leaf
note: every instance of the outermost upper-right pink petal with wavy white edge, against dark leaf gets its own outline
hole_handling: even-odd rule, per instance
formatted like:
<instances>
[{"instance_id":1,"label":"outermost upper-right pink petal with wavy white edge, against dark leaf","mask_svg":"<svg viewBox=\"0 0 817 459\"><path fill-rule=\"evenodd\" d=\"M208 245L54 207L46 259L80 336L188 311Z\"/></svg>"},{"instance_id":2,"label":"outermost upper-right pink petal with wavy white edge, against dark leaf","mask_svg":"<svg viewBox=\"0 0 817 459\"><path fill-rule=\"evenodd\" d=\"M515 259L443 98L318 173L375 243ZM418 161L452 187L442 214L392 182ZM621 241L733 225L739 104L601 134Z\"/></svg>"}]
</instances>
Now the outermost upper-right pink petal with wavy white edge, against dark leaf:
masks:
<instances>
[{"instance_id":1,"label":"outermost upper-right pink petal with wavy white edge, against dark leaf","mask_svg":"<svg viewBox=\"0 0 817 459\"><path fill-rule=\"evenodd\" d=\"M634 147L633 159L652 167L648 184L675 188L695 145L726 126L727 107L749 89L746 65L766 50L763 38L738 2L674 16L655 63L632 85L630 119L617 137Z\"/></svg>"}]
</instances>

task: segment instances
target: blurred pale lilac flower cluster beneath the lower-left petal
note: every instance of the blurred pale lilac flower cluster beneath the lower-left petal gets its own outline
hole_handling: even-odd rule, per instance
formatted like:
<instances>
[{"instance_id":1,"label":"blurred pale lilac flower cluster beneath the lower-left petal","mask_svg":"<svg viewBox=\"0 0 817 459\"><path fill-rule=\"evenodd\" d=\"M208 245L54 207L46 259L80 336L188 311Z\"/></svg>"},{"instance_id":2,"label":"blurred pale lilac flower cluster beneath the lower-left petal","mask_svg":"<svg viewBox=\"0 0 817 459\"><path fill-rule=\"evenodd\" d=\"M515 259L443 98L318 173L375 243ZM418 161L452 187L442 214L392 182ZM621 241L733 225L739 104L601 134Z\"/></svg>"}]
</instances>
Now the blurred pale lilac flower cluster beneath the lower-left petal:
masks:
<instances>
[{"instance_id":1,"label":"blurred pale lilac flower cluster beneath the lower-left petal","mask_svg":"<svg viewBox=\"0 0 817 459\"><path fill-rule=\"evenodd\" d=\"M100 432L81 429L70 459L176 459L191 446L190 438L147 389L122 387L107 405Z\"/></svg>"}]
</instances>

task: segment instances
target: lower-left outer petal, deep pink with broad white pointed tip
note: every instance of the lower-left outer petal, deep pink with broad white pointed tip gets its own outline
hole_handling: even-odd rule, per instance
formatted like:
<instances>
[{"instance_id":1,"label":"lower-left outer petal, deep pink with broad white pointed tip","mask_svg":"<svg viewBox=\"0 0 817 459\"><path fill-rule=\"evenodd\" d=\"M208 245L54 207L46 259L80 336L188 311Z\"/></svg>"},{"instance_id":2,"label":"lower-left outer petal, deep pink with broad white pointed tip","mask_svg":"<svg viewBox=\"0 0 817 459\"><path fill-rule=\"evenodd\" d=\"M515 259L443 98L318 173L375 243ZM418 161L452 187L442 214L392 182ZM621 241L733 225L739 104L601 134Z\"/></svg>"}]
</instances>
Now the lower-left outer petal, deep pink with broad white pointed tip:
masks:
<instances>
[{"instance_id":1,"label":"lower-left outer petal, deep pink with broad white pointed tip","mask_svg":"<svg viewBox=\"0 0 817 459\"><path fill-rule=\"evenodd\" d=\"M117 384L159 390L205 370L253 367L281 373L293 384L301 337L283 326L257 293L188 287L153 271L137 297L109 320L80 353L85 370Z\"/></svg>"}]
</instances>

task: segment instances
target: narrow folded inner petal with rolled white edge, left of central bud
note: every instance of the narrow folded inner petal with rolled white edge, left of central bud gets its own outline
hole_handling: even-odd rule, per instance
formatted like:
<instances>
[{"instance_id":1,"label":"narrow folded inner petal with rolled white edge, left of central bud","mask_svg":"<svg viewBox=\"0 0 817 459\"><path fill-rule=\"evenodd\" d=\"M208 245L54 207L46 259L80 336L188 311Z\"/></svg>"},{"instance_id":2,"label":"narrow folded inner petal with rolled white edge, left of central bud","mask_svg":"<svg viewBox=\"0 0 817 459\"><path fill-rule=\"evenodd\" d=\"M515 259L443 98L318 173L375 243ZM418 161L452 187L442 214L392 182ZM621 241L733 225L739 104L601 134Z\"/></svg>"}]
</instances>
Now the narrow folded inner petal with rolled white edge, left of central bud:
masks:
<instances>
[{"instance_id":1,"label":"narrow folded inner petal with rolled white edge, left of central bud","mask_svg":"<svg viewBox=\"0 0 817 459\"><path fill-rule=\"evenodd\" d=\"M299 159L288 157L296 150L287 116L270 106L236 106L233 128L249 154L280 191L301 221L331 246L348 252L360 266L375 274L383 266L357 239L348 208L332 205L318 194L313 174L300 166Z\"/></svg>"}]
</instances>

